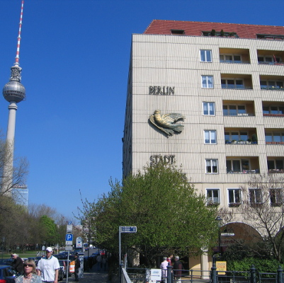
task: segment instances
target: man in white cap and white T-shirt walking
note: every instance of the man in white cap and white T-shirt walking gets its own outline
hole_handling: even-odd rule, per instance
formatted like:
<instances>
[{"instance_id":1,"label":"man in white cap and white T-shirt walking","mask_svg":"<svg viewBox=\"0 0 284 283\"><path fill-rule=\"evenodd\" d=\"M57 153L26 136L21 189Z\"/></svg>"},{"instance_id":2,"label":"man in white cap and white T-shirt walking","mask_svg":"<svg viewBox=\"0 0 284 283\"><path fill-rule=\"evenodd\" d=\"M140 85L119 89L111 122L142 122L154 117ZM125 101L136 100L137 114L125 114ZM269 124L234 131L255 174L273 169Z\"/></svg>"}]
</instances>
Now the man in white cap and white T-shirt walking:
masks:
<instances>
[{"instance_id":1,"label":"man in white cap and white T-shirt walking","mask_svg":"<svg viewBox=\"0 0 284 283\"><path fill-rule=\"evenodd\" d=\"M58 282L59 261L52 255L52 248L47 247L46 256L38 261L38 275L40 275L42 282Z\"/></svg>"}]
</instances>

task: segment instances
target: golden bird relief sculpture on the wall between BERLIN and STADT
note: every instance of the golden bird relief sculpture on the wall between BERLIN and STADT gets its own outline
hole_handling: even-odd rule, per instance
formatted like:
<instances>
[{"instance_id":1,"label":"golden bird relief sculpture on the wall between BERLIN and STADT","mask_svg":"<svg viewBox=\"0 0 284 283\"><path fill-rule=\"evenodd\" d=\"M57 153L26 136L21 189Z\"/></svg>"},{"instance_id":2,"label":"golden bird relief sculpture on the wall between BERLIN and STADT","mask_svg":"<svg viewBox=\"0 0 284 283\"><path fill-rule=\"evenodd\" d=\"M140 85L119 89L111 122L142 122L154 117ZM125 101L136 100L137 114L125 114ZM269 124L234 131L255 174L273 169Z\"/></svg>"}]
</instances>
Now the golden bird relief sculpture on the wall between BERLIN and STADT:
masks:
<instances>
[{"instance_id":1,"label":"golden bird relief sculpture on the wall between BERLIN and STADT","mask_svg":"<svg viewBox=\"0 0 284 283\"><path fill-rule=\"evenodd\" d=\"M149 117L150 122L168 136L172 136L175 132L182 132L183 125L176 124L176 122L184 119L186 116L179 113L161 115L161 110L155 110L154 115Z\"/></svg>"}]
</instances>

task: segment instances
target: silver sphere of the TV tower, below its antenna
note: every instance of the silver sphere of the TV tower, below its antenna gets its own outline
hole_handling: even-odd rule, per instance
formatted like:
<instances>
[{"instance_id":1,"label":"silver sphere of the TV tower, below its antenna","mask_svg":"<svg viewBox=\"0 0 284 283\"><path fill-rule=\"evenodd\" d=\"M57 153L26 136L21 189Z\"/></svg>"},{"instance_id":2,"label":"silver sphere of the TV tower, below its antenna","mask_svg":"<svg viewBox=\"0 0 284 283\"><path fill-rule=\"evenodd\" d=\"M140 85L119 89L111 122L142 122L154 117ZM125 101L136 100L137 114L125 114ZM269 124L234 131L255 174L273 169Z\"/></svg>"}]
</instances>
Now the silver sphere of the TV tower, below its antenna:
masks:
<instances>
[{"instance_id":1,"label":"silver sphere of the TV tower, below its antenna","mask_svg":"<svg viewBox=\"0 0 284 283\"><path fill-rule=\"evenodd\" d=\"M14 65L11 67L10 81L3 88L3 96L8 102L19 103L25 99L25 87L21 84L22 68Z\"/></svg>"}]
</instances>

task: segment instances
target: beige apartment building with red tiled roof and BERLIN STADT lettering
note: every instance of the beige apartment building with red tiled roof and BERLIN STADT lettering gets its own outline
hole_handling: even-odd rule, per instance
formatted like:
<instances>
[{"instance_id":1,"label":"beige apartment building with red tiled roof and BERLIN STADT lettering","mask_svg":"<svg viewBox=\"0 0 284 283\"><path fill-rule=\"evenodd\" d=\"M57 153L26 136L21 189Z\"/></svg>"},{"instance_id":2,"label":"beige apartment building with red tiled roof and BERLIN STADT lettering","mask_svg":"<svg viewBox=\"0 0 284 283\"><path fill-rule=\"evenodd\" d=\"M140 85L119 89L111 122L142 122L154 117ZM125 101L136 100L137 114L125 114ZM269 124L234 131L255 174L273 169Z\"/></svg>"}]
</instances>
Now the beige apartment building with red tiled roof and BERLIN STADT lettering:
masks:
<instances>
[{"instance_id":1,"label":"beige apartment building with red tiled roof and BERLIN STADT lettering","mask_svg":"<svg viewBox=\"0 0 284 283\"><path fill-rule=\"evenodd\" d=\"M252 174L284 173L283 62L281 26L154 20L132 35L123 175L175 163L208 205L241 204ZM261 233L240 222L236 237Z\"/></svg>"}]
</instances>

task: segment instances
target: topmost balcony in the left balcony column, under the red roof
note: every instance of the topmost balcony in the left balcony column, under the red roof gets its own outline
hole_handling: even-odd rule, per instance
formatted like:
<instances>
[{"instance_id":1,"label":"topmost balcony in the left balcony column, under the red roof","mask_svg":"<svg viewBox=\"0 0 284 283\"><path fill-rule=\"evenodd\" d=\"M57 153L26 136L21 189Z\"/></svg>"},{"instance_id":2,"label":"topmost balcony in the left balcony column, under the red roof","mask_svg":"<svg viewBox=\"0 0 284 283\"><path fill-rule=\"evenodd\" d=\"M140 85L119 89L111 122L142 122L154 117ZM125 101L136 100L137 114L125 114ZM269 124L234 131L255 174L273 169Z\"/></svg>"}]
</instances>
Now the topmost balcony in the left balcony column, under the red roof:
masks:
<instances>
[{"instance_id":1,"label":"topmost balcony in the left balcony column, under the red roof","mask_svg":"<svg viewBox=\"0 0 284 283\"><path fill-rule=\"evenodd\" d=\"M220 48L220 63L251 64L248 49Z\"/></svg>"}]
</instances>

